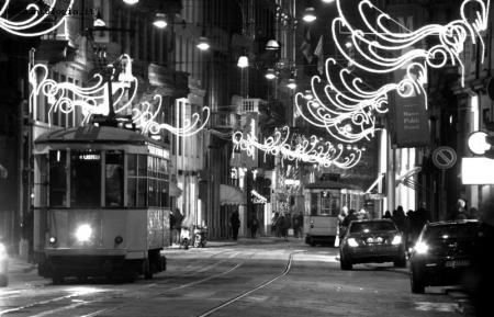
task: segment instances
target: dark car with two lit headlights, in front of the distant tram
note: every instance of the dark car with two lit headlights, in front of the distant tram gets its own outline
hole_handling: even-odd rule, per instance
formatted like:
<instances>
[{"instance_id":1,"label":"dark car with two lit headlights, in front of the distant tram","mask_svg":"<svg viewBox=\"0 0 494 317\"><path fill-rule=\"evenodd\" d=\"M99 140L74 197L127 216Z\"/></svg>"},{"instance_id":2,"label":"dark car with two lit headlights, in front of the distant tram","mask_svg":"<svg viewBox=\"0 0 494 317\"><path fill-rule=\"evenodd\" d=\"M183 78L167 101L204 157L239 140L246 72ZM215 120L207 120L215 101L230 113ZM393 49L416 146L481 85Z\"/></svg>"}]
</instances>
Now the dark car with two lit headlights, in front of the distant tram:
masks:
<instances>
[{"instance_id":1,"label":"dark car with two lit headlights, in front of the distant tram","mask_svg":"<svg viewBox=\"0 0 494 317\"><path fill-rule=\"evenodd\" d=\"M356 263L393 262L406 268L405 244L402 233L390 219L353 220L339 247L341 270Z\"/></svg>"}]
</instances>

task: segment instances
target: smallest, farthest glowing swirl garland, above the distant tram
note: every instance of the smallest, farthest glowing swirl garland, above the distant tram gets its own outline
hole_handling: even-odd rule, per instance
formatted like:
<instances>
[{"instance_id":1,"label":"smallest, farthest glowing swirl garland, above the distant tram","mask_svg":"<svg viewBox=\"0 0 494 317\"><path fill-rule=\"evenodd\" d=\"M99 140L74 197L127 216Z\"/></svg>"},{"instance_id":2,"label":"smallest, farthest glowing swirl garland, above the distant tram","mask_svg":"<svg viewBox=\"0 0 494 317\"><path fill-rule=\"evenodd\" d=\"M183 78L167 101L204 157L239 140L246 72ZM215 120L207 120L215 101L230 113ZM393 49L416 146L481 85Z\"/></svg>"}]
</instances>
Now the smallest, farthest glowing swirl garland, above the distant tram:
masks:
<instances>
[{"instance_id":1,"label":"smallest, farthest glowing swirl garland, above the distant tram","mask_svg":"<svg viewBox=\"0 0 494 317\"><path fill-rule=\"evenodd\" d=\"M255 121L252 120L252 124ZM262 144L257 140L254 133L249 133L244 137L243 132L236 132L233 135L234 149L245 150L248 156L255 156L255 149L265 151L265 155L281 155L283 159L294 160L295 162L304 161L318 163L323 167L332 165L349 169L355 167L361 158L361 150L357 149L347 157L343 156L344 146L341 144L336 147L329 143L319 143L316 136L304 139L299 143L294 149L289 143L290 128L284 126L277 129L273 136L268 137Z\"/></svg>"}]
</instances>

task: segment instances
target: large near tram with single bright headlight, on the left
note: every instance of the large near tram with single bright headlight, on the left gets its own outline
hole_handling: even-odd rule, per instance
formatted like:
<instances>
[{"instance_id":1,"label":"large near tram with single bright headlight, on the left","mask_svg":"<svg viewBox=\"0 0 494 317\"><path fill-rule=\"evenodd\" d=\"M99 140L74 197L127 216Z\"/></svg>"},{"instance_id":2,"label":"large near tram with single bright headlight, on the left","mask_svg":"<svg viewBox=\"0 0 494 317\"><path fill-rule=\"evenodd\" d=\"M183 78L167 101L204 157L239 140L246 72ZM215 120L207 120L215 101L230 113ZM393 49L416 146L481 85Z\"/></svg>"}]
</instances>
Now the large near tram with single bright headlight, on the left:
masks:
<instances>
[{"instance_id":1,"label":"large near tram with single bright headlight, on the left","mask_svg":"<svg viewBox=\"0 0 494 317\"><path fill-rule=\"evenodd\" d=\"M34 248L38 274L134 281L166 270L169 146L135 131L88 125L38 136Z\"/></svg>"}]
</instances>

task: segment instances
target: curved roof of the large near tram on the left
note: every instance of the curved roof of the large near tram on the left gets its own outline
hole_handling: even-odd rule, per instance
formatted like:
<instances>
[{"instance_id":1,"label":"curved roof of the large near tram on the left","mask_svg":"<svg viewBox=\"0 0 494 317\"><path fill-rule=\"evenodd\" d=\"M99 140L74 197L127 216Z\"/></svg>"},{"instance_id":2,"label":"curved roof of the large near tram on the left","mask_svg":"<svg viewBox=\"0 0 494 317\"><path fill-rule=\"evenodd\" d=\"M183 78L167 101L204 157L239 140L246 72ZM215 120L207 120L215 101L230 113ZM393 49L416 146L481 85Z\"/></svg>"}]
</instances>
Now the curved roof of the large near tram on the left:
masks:
<instances>
[{"instance_id":1,"label":"curved roof of the large near tram on the left","mask_svg":"<svg viewBox=\"0 0 494 317\"><path fill-rule=\"evenodd\" d=\"M164 147L165 144L131 129L110 126L67 127L47 132L38 136L35 144L154 144Z\"/></svg>"}]
</instances>

